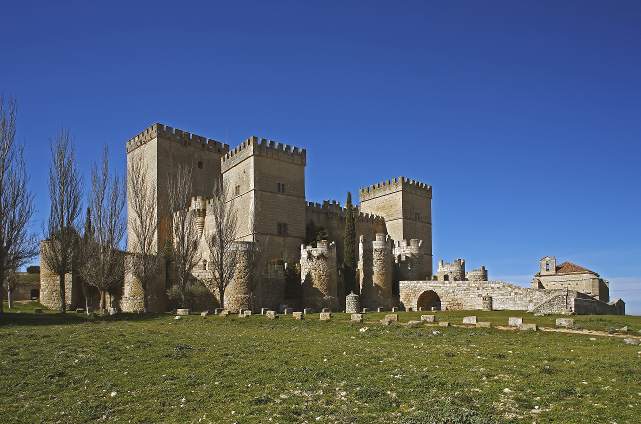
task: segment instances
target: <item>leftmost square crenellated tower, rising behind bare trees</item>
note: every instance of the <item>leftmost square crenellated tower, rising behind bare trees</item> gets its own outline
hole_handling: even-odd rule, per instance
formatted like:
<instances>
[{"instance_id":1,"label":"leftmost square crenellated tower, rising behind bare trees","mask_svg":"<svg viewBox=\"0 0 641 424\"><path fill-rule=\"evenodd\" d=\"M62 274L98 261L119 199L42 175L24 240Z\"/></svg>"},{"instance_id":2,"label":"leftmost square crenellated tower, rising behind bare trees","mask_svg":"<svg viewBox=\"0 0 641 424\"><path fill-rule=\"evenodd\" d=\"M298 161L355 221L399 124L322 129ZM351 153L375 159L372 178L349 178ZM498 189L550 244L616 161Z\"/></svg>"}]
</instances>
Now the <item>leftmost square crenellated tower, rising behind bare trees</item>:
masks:
<instances>
[{"instance_id":1,"label":"leftmost square crenellated tower, rising behind bare trees","mask_svg":"<svg viewBox=\"0 0 641 424\"><path fill-rule=\"evenodd\" d=\"M153 124L127 142L127 169L132 160L142 158L148 181L155 186L157 246L170 237L168 184L178 167L192 168L192 196L210 196L220 180L220 158L228 151L226 144L163 124ZM132 216L129 205L127 216ZM127 227L129 232L129 221Z\"/></svg>"}]
</instances>

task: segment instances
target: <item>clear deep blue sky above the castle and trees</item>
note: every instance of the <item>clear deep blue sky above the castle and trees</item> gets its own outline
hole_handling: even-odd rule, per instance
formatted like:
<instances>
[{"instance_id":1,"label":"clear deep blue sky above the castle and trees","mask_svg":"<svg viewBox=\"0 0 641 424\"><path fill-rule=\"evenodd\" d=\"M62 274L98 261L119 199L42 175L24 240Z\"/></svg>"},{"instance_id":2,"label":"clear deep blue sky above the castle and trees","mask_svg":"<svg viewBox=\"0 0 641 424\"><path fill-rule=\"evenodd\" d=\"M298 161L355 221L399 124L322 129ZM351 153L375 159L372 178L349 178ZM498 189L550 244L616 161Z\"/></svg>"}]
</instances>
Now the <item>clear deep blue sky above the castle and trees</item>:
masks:
<instances>
[{"instance_id":1,"label":"clear deep blue sky above the castle and trees","mask_svg":"<svg viewBox=\"0 0 641 424\"><path fill-rule=\"evenodd\" d=\"M101 3L100 6L97 3ZM398 3L402 3L399 5ZM3 1L40 230L49 139L88 173L159 121L307 148L307 197L398 175L434 187L435 262L528 283L599 272L641 314L639 1Z\"/></svg>"}]
</instances>

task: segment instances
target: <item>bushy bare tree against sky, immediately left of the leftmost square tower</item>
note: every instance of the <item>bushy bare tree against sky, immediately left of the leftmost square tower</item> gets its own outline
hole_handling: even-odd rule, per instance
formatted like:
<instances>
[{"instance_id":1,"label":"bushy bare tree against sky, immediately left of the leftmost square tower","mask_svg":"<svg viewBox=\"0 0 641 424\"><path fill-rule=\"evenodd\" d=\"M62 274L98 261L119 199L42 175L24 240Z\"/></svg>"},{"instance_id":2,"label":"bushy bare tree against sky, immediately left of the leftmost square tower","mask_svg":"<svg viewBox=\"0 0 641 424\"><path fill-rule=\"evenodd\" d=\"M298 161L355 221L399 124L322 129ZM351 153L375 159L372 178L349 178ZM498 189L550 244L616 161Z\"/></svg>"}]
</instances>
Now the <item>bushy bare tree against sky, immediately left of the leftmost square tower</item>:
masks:
<instances>
[{"instance_id":1,"label":"bushy bare tree against sky, immediately left of the leftmost square tower","mask_svg":"<svg viewBox=\"0 0 641 424\"><path fill-rule=\"evenodd\" d=\"M125 235L124 207L124 184L117 175L110 175L105 146L100 167L94 164L91 170L88 229L83 237L84 260L79 266L83 279L100 293L100 311L107 308L107 293L124 278L120 251ZM88 231L90 234L86 234Z\"/></svg>"}]
</instances>

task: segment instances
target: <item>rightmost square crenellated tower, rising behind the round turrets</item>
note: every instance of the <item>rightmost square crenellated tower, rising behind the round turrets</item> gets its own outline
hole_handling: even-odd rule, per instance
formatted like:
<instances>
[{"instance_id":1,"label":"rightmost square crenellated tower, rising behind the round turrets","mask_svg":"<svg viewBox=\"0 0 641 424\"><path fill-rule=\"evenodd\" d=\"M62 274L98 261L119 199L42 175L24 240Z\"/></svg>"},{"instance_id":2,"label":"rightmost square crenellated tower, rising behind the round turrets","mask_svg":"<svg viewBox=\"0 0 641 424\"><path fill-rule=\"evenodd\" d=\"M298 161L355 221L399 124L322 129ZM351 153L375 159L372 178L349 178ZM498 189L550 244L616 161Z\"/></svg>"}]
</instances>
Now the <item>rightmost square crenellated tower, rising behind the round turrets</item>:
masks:
<instances>
[{"instance_id":1,"label":"rightmost square crenellated tower, rising behind the round turrets","mask_svg":"<svg viewBox=\"0 0 641 424\"><path fill-rule=\"evenodd\" d=\"M395 241L423 240L425 271L432 275L432 186L398 177L360 190L360 211L385 219Z\"/></svg>"}]
</instances>

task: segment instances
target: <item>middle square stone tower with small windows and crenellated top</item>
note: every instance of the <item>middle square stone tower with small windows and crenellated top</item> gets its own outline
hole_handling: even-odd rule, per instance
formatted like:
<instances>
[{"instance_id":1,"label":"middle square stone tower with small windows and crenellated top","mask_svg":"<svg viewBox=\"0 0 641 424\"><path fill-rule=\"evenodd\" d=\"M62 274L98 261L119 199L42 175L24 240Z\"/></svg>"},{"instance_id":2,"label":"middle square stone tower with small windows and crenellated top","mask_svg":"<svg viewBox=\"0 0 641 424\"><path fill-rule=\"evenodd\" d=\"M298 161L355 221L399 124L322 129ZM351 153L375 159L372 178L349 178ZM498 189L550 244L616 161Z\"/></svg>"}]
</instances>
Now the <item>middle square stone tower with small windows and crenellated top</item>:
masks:
<instances>
[{"instance_id":1,"label":"middle square stone tower with small windows and crenellated top","mask_svg":"<svg viewBox=\"0 0 641 424\"><path fill-rule=\"evenodd\" d=\"M257 137L221 159L223 182L240 211L239 240L260 242L267 261L300 257L306 160L305 149Z\"/></svg>"}]
</instances>

